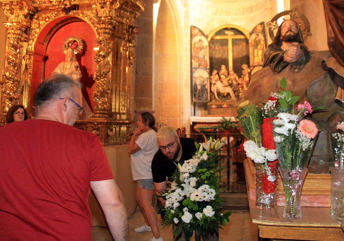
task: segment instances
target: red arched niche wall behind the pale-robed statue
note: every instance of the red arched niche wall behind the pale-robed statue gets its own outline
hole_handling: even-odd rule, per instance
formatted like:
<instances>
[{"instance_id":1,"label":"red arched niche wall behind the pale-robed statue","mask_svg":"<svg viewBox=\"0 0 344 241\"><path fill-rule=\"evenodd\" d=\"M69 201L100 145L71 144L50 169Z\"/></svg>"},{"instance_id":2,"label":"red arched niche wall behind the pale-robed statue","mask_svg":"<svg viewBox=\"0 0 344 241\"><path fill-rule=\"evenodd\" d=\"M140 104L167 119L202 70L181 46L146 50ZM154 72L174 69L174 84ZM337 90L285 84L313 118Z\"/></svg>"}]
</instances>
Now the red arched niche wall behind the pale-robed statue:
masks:
<instances>
[{"instance_id":1,"label":"red arched niche wall behind the pale-robed statue","mask_svg":"<svg viewBox=\"0 0 344 241\"><path fill-rule=\"evenodd\" d=\"M61 18L63 21L65 18ZM58 21L61 21L60 19ZM56 21L56 22L58 22ZM35 46L35 57L33 63L32 83L31 83L31 105L34 105L34 94L37 90L37 86L41 82L41 79L45 79L51 76L51 73L55 70L57 65L62 61L65 61L65 54L63 52L63 42L70 36L76 36L84 40L84 51L76 54L76 59L79 63L82 77L80 82L83 84L82 93L90 106L94 109L94 101L92 95L95 88L95 82L93 80L93 74L96 70L96 62L94 60L96 52L93 50L96 47L96 34L90 25L80 19L80 21L69 22L62 25L62 27L53 31L47 44L43 46L40 39L46 36L46 32L52 29L52 25L56 22L48 24L39 36ZM56 26L56 25L55 25ZM45 36L44 36L45 35ZM44 53L45 49L45 53ZM44 56L45 55L45 56ZM45 62L40 59L42 56ZM35 61L36 60L36 61ZM36 63L37 62L37 63ZM43 62L43 63L42 63ZM43 75L43 76L42 76ZM37 83L36 83L37 82Z\"/></svg>"}]
</instances>

